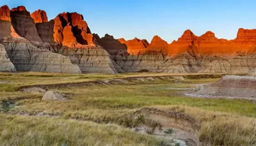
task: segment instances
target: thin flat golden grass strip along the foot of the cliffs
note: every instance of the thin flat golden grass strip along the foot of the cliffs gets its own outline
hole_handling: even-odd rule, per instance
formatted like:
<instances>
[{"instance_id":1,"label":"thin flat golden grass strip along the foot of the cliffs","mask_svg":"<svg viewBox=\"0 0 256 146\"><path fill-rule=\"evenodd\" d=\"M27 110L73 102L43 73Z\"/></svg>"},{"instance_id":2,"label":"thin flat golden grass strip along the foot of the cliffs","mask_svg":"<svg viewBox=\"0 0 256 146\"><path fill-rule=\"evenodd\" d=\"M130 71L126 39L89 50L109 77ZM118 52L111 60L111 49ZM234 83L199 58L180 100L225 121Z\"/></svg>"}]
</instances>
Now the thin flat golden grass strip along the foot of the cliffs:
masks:
<instances>
[{"instance_id":1,"label":"thin flat golden grass strip along the foot of the cliffs","mask_svg":"<svg viewBox=\"0 0 256 146\"><path fill-rule=\"evenodd\" d=\"M0 81L9 81L0 84L0 91L16 91L18 87L38 84L74 83L94 80L107 80L112 78L137 77L137 76L197 76L199 73L173 74L173 73L125 73L125 74L67 74L47 72L0 72ZM210 75L210 74L209 74ZM222 75L222 74L219 74ZM216 75L212 75L216 76Z\"/></svg>"}]
</instances>

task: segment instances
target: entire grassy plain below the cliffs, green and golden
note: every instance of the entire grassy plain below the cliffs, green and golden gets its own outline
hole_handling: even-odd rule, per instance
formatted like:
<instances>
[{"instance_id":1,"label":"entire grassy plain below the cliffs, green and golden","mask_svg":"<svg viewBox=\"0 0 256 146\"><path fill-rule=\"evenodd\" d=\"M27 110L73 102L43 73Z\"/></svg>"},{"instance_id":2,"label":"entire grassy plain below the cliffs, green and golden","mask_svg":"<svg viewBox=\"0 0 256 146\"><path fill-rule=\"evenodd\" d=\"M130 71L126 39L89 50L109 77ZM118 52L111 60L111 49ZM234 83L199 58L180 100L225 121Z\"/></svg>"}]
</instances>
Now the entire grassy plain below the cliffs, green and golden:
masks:
<instances>
[{"instance_id":1,"label":"entire grassy plain below the cliffs, green and golden","mask_svg":"<svg viewBox=\"0 0 256 146\"><path fill-rule=\"evenodd\" d=\"M43 94L21 92L27 85L74 83L135 76L170 74L1 73L0 145L20 146L163 146L154 136L130 131L140 124L133 113L143 107L178 111L202 126L200 141L213 146L256 145L256 104L249 100L191 98L173 88L212 83L222 75L187 75L186 81L134 82L124 85L54 88L73 93L68 101L42 101ZM10 106L11 105L11 106Z\"/></svg>"}]
</instances>

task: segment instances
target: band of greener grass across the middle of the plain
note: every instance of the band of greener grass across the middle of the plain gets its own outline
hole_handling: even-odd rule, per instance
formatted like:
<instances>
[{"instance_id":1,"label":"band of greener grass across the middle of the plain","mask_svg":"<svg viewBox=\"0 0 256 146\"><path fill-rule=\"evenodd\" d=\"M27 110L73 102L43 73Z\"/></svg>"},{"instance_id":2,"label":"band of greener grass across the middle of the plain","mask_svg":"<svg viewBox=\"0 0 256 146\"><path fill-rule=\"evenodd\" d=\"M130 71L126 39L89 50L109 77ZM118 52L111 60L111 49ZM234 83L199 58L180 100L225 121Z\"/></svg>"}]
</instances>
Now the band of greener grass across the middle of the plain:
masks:
<instances>
[{"instance_id":1,"label":"band of greener grass across the middle of the plain","mask_svg":"<svg viewBox=\"0 0 256 146\"><path fill-rule=\"evenodd\" d=\"M71 101L22 100L18 104L22 111L84 111L87 109L138 109L155 105L182 105L199 107L210 111L222 111L242 116L256 117L255 101L242 99L205 99L178 95L165 85L107 86L63 89L62 92L76 93ZM188 85L186 85L188 86ZM166 88L165 88L166 87ZM19 108L17 110L19 110Z\"/></svg>"}]
</instances>

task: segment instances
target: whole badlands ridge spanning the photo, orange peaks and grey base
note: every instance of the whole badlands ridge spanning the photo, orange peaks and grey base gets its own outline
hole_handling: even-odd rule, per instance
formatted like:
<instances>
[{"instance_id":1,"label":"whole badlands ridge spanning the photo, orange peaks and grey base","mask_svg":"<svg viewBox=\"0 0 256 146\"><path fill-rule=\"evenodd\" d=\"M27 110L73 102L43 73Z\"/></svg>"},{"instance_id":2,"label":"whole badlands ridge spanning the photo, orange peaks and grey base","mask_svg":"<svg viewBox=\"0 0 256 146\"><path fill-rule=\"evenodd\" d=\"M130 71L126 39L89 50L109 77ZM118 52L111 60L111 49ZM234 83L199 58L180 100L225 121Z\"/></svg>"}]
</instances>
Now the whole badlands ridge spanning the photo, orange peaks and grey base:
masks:
<instances>
[{"instance_id":1,"label":"whole badlands ridge spanning the photo, orange peaks and grey base","mask_svg":"<svg viewBox=\"0 0 256 146\"><path fill-rule=\"evenodd\" d=\"M17 71L251 74L256 69L256 29L240 28L234 40L216 38L211 31L196 36L185 30L171 44L157 35L149 43L100 37L76 12L48 20L44 10L30 13L25 6L10 10L7 5L0 7L0 29L1 48L7 53L2 58L10 58Z\"/></svg>"}]
</instances>

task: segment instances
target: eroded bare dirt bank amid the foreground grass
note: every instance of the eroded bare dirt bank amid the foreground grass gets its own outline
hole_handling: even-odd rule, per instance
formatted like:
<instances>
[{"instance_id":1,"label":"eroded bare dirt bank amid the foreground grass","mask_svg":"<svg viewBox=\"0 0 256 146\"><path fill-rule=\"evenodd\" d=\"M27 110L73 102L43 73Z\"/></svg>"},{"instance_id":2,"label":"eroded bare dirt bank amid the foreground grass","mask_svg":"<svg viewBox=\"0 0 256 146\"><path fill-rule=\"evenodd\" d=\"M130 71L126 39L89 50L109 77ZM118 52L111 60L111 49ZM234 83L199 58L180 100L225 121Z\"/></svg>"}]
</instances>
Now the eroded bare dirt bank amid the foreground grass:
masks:
<instances>
[{"instance_id":1,"label":"eroded bare dirt bank amid the foreground grass","mask_svg":"<svg viewBox=\"0 0 256 146\"><path fill-rule=\"evenodd\" d=\"M135 112L134 116L146 115L153 121L156 121L159 126L153 128L152 134L155 136L174 138L178 141L185 142L185 145L180 146L198 146L201 145L197 138L197 133L201 128L201 124L192 116L186 115L182 112L177 111L164 111L156 108L144 107L139 111ZM145 125L137 127L137 131L143 132L148 128ZM163 131L172 128L172 134L166 134Z\"/></svg>"}]
</instances>

